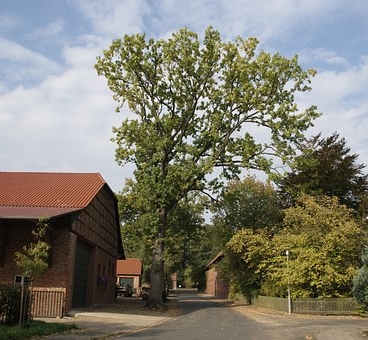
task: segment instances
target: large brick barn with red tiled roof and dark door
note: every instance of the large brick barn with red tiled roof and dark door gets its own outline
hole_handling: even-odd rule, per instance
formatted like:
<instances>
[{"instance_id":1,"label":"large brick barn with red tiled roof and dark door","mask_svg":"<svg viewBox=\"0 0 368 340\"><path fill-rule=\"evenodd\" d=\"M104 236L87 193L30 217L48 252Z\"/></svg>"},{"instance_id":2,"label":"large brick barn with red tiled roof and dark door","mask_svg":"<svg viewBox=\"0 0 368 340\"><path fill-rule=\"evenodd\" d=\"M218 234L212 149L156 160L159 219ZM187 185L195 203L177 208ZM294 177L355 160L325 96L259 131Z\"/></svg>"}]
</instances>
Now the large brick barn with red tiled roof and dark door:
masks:
<instances>
[{"instance_id":1,"label":"large brick barn with red tiled roof and dark door","mask_svg":"<svg viewBox=\"0 0 368 340\"><path fill-rule=\"evenodd\" d=\"M22 275L15 253L49 224L49 267L33 281L32 316L115 299L116 260L125 258L118 204L99 173L0 172L0 283Z\"/></svg>"}]
</instances>

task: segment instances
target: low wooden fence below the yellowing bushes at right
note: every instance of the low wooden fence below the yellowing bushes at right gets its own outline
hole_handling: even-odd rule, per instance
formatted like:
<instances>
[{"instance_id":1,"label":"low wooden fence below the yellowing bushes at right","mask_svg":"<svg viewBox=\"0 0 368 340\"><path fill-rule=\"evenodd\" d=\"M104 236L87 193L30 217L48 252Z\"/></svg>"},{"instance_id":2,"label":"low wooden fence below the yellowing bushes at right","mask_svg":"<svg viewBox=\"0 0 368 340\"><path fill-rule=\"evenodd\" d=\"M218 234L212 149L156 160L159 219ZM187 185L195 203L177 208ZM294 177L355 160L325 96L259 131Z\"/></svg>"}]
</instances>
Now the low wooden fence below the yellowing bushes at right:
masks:
<instances>
[{"instance_id":1,"label":"low wooden fence below the yellowing bushes at right","mask_svg":"<svg viewBox=\"0 0 368 340\"><path fill-rule=\"evenodd\" d=\"M252 299L256 306L288 312L288 299L258 296ZM292 299L291 311L297 314L355 315L359 314L353 298Z\"/></svg>"}]
</instances>

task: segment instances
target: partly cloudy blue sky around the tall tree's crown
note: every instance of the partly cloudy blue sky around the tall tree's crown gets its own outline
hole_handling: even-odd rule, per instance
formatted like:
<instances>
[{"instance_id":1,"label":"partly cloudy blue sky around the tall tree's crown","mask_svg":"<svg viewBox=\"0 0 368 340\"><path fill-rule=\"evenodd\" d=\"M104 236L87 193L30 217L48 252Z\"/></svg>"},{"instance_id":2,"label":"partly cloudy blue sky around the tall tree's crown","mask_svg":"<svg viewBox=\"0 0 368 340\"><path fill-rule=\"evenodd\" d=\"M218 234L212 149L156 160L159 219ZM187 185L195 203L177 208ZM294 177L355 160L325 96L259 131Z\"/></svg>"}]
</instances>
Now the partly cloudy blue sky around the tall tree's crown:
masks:
<instances>
[{"instance_id":1,"label":"partly cloudy blue sky around the tall tree's crown","mask_svg":"<svg viewBox=\"0 0 368 340\"><path fill-rule=\"evenodd\" d=\"M124 34L209 25L316 69L297 98L323 113L309 133L338 132L368 164L366 0L12 0L0 2L0 171L100 172L121 190L131 167L115 163L110 138L123 117L96 57Z\"/></svg>"}]
</instances>

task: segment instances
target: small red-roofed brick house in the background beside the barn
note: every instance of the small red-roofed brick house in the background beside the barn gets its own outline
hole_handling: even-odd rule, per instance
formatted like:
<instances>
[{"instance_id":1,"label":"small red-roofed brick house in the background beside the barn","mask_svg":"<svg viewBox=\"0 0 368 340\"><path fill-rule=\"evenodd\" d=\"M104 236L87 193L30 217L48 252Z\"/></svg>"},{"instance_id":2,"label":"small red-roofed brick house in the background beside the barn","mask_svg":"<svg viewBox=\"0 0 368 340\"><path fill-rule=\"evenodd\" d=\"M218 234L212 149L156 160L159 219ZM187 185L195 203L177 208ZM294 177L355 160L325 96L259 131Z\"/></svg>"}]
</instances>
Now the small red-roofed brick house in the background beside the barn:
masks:
<instances>
[{"instance_id":1,"label":"small red-roofed brick house in the background beside the barn","mask_svg":"<svg viewBox=\"0 0 368 340\"><path fill-rule=\"evenodd\" d=\"M139 293L142 284L143 261L137 258L127 258L116 262L116 283L130 284Z\"/></svg>"}]
</instances>

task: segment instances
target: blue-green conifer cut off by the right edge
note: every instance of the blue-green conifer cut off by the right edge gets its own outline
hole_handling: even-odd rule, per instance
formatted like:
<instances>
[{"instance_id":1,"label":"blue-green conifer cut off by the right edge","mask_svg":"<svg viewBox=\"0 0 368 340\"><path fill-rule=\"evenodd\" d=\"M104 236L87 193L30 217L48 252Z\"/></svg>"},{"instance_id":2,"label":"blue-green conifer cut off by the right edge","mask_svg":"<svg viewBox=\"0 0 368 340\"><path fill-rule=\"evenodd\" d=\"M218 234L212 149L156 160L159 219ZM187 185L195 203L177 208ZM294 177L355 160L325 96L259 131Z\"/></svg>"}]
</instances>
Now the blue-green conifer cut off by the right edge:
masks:
<instances>
[{"instance_id":1,"label":"blue-green conifer cut off by the right edge","mask_svg":"<svg viewBox=\"0 0 368 340\"><path fill-rule=\"evenodd\" d=\"M353 279L353 295L365 311L368 310L368 246L362 253L362 267Z\"/></svg>"}]
</instances>

